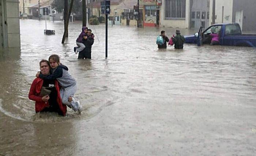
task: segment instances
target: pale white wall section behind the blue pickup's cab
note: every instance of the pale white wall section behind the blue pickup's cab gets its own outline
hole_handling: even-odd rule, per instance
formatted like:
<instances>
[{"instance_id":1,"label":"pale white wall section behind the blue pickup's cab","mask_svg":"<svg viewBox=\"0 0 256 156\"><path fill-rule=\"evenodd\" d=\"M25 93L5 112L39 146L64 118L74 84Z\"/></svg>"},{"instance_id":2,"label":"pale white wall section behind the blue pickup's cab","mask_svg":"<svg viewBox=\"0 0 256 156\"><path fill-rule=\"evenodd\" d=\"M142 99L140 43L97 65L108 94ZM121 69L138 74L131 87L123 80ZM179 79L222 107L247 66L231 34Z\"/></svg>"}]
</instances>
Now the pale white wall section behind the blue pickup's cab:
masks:
<instances>
[{"instance_id":1,"label":"pale white wall section behind the blue pickup's cab","mask_svg":"<svg viewBox=\"0 0 256 156\"><path fill-rule=\"evenodd\" d=\"M215 0L215 24L232 23L233 18L233 0ZM210 23L212 22L212 0L210 0ZM223 22L222 22L223 7Z\"/></svg>"}]
</instances>

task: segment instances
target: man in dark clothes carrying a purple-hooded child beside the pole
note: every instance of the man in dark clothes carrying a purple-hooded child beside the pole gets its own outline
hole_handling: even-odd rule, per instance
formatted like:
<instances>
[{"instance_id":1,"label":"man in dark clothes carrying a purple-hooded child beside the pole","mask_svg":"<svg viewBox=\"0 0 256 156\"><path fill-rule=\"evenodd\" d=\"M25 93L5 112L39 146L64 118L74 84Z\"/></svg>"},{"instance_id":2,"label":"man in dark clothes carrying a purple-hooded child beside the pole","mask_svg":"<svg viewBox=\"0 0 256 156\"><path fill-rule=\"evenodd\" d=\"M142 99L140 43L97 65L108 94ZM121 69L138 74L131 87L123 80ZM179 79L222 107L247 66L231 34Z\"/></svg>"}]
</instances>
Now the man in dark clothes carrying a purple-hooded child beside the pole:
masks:
<instances>
[{"instance_id":1,"label":"man in dark clothes carrying a purple-hooded child beside the pole","mask_svg":"<svg viewBox=\"0 0 256 156\"><path fill-rule=\"evenodd\" d=\"M87 39L83 39L85 48L79 52L78 59L91 59L91 47L94 44L94 36L91 35L91 29L87 31Z\"/></svg>"}]
</instances>

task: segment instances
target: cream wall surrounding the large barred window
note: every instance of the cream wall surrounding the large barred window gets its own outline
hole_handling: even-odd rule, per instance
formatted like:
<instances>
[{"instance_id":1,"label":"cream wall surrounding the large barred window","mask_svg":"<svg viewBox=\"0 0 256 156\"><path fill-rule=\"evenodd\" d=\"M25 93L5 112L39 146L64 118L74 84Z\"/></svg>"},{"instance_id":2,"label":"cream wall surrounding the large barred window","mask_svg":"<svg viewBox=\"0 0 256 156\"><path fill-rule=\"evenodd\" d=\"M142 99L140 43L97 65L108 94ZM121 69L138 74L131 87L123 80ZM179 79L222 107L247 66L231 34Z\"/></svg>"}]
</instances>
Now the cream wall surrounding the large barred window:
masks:
<instances>
[{"instance_id":1,"label":"cream wall surrounding the large barred window","mask_svg":"<svg viewBox=\"0 0 256 156\"><path fill-rule=\"evenodd\" d=\"M173 27L173 28L189 28L190 24L190 0L186 0L186 17L185 19L165 19L165 0L162 0L160 9L160 27Z\"/></svg>"}]
</instances>

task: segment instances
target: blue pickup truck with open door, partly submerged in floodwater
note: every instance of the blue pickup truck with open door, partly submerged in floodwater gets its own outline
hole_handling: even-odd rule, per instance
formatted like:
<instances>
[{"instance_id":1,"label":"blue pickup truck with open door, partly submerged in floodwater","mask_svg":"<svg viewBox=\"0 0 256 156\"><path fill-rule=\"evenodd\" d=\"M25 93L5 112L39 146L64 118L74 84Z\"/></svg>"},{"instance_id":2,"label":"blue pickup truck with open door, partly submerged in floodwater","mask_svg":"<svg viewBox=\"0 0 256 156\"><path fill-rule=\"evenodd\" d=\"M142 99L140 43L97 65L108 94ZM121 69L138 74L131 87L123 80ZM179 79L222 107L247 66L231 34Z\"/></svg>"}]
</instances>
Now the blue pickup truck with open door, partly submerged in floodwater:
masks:
<instances>
[{"instance_id":1,"label":"blue pickup truck with open door, partly submerged in floodwater","mask_svg":"<svg viewBox=\"0 0 256 156\"><path fill-rule=\"evenodd\" d=\"M185 36L185 43L210 44L211 33L218 33L220 45L256 47L256 35L242 35L238 23L214 24L203 32L201 27L195 35Z\"/></svg>"}]
</instances>

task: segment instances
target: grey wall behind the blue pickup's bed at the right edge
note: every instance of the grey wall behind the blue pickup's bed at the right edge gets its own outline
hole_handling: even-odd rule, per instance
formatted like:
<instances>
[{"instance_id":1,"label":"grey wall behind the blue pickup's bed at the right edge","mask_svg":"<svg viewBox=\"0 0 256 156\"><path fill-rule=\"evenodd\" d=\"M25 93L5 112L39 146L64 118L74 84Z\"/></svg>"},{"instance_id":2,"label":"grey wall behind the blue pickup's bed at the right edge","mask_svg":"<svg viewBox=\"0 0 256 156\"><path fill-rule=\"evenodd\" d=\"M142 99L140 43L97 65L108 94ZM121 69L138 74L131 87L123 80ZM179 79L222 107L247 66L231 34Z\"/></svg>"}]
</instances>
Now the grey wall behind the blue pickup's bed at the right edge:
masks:
<instances>
[{"instance_id":1,"label":"grey wall behind the blue pickup's bed at the right edge","mask_svg":"<svg viewBox=\"0 0 256 156\"><path fill-rule=\"evenodd\" d=\"M243 10L243 31L256 30L256 0L233 0L233 18L236 21L236 12Z\"/></svg>"}]
</instances>

